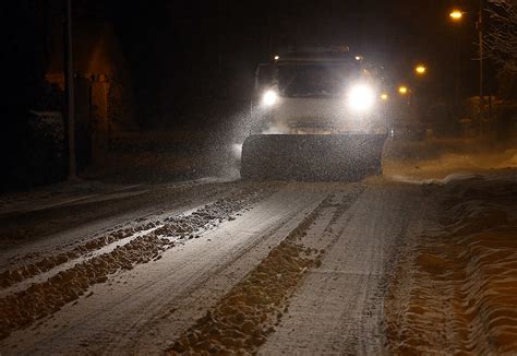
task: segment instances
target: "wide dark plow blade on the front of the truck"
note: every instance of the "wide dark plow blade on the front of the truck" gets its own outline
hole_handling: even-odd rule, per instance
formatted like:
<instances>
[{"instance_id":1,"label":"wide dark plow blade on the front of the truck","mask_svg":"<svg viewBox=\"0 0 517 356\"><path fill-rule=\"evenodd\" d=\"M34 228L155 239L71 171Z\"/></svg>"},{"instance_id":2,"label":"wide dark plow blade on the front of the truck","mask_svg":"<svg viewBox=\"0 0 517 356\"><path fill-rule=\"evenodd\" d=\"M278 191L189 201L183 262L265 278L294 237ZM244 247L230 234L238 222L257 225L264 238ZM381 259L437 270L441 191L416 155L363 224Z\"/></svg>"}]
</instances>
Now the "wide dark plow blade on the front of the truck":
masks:
<instances>
[{"instance_id":1,"label":"wide dark plow blade on the front of the truck","mask_svg":"<svg viewBox=\"0 0 517 356\"><path fill-rule=\"evenodd\" d=\"M382 173L385 134L257 134L242 146L244 179L339 181Z\"/></svg>"}]
</instances>

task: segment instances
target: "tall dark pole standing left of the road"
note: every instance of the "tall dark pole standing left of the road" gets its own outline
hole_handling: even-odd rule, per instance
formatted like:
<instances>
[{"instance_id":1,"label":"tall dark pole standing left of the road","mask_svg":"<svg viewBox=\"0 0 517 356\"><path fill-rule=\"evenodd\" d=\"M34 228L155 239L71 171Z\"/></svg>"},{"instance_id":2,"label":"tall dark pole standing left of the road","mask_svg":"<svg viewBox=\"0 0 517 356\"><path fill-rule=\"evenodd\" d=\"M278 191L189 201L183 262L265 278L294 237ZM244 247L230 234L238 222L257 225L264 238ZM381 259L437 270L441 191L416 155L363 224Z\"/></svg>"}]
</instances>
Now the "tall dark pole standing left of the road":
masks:
<instances>
[{"instance_id":1,"label":"tall dark pole standing left of the road","mask_svg":"<svg viewBox=\"0 0 517 356\"><path fill-rule=\"evenodd\" d=\"M72 0L65 0L64 26L64 90L67 93L67 118L69 133L69 179L76 178L75 168L75 98L74 98L74 71L72 56Z\"/></svg>"}]
</instances>

